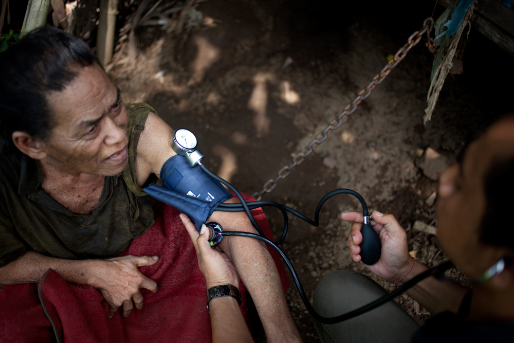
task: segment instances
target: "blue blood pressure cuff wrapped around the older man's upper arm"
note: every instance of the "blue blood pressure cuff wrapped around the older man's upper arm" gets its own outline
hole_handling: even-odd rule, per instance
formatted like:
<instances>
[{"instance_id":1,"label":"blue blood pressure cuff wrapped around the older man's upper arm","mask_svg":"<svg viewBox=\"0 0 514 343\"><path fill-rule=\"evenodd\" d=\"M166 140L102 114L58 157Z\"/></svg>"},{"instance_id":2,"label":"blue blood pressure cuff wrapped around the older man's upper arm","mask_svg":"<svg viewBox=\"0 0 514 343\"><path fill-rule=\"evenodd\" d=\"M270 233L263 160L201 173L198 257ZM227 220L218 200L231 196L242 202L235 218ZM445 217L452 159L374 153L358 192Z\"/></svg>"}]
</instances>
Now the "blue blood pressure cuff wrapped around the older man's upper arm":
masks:
<instances>
[{"instance_id":1,"label":"blue blood pressure cuff wrapped around the older man's upper arm","mask_svg":"<svg viewBox=\"0 0 514 343\"><path fill-rule=\"evenodd\" d=\"M164 187L150 184L143 191L157 200L189 215L198 230L216 207L232 195L199 166L191 167L186 157L170 157L161 168Z\"/></svg>"}]
</instances>

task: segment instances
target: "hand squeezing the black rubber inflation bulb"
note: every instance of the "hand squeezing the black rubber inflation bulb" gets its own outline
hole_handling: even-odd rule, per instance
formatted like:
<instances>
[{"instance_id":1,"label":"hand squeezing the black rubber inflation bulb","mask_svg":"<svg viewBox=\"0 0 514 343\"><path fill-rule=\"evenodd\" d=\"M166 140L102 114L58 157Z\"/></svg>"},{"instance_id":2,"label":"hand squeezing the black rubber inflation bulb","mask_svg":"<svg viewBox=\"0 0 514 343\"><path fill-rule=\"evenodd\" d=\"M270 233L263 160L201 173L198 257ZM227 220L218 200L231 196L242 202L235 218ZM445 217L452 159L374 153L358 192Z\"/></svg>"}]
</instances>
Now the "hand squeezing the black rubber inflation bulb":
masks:
<instances>
[{"instance_id":1,"label":"hand squeezing the black rubber inflation bulb","mask_svg":"<svg viewBox=\"0 0 514 343\"><path fill-rule=\"evenodd\" d=\"M382 214L373 211L372 227L378 232L382 243L382 253L380 260L374 265L366 265L371 272L382 279L396 281L409 272L414 259L409 255L407 234L398 224L392 214ZM341 219L353 222L350 234L348 235L348 247L350 254L355 262L361 260L359 244L362 242L362 212L343 212Z\"/></svg>"}]
</instances>

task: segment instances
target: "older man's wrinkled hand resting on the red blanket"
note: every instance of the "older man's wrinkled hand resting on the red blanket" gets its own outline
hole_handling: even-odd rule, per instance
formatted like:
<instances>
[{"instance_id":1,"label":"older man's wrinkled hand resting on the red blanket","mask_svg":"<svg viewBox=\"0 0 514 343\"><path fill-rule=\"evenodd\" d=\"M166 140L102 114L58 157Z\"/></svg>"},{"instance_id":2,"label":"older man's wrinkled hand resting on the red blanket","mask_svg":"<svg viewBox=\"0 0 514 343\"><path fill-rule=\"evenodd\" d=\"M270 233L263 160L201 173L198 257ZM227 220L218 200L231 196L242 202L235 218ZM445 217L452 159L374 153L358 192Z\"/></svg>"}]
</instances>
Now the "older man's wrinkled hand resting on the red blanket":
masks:
<instances>
[{"instance_id":1,"label":"older man's wrinkled hand resting on the red blanket","mask_svg":"<svg viewBox=\"0 0 514 343\"><path fill-rule=\"evenodd\" d=\"M120 306L123 306L123 316L127 317L131 310L143 307L143 296L139 288L157 292L157 283L141 274L138 267L155 264L157 256L122 256L108 260L89 260L88 284L97 288L103 298L109 303L111 318Z\"/></svg>"}]
</instances>

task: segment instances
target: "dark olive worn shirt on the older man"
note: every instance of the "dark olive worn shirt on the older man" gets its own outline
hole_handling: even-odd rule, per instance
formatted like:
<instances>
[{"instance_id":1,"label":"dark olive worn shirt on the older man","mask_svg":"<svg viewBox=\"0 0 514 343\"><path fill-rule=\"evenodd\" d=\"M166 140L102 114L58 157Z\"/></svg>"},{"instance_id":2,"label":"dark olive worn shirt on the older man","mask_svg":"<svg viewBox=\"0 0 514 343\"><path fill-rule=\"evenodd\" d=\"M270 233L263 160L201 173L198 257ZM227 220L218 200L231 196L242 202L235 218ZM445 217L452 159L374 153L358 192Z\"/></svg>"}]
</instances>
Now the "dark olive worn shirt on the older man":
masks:
<instances>
[{"instance_id":1,"label":"dark olive worn shirt on the older man","mask_svg":"<svg viewBox=\"0 0 514 343\"><path fill-rule=\"evenodd\" d=\"M137 186L135 156L149 112L144 103L125 104L128 164L106 176L98 208L69 211L41 188L38 162L23 156L0 158L0 267L27 251L63 259L119 255L154 222L155 201Z\"/></svg>"}]
</instances>

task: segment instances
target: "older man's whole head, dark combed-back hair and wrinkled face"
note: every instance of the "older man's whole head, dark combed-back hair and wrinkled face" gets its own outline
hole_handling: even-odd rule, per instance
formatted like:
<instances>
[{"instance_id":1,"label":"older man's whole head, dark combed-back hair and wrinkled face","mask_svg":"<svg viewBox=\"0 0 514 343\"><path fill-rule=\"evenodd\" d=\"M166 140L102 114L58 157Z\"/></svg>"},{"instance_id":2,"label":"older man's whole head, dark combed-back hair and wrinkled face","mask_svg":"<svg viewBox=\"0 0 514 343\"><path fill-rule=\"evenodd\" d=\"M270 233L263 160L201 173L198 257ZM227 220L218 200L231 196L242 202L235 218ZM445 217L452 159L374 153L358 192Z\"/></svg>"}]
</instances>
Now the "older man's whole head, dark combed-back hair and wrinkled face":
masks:
<instances>
[{"instance_id":1,"label":"older man's whole head, dark combed-back hair and wrinkled face","mask_svg":"<svg viewBox=\"0 0 514 343\"><path fill-rule=\"evenodd\" d=\"M81 40L45 27L0 54L2 153L69 173L116 175L126 166L119 89Z\"/></svg>"}]
</instances>

